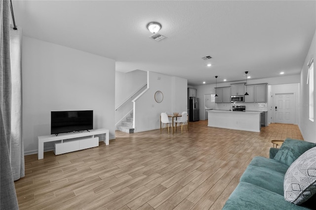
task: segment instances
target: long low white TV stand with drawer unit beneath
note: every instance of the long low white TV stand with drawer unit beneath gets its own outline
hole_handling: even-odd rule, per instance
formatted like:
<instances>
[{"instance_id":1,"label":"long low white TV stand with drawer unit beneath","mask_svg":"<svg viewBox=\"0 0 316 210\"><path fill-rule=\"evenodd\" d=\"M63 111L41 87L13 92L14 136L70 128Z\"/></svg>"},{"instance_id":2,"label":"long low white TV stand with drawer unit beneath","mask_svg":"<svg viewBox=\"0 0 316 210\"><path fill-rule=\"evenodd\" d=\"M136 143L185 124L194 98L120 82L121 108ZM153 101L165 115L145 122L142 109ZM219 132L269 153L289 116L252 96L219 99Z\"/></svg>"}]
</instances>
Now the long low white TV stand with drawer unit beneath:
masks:
<instances>
[{"instance_id":1,"label":"long low white TV stand with drawer unit beneath","mask_svg":"<svg viewBox=\"0 0 316 210\"><path fill-rule=\"evenodd\" d=\"M73 152L81 149L87 149L95 146L99 146L99 137L94 137L94 135L105 134L106 137L104 139L104 143L109 145L109 129L95 129L78 132L78 133L68 133L61 135L47 135L47 136L39 136L39 153L38 159L44 158L44 142L50 141L60 141L55 143L54 153L56 155L63 154L67 152Z\"/></svg>"}]
</instances>

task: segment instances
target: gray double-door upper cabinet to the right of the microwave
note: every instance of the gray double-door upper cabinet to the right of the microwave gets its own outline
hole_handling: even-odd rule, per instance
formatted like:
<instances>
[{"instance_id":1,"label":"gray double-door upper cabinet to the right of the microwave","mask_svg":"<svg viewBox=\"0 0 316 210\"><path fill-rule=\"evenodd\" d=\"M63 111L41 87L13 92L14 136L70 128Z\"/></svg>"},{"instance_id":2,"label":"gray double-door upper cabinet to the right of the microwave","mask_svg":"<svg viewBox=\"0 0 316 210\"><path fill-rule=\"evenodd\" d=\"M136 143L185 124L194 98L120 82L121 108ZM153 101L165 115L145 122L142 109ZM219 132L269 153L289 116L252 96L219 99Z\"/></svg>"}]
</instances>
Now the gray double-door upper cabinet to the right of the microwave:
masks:
<instances>
[{"instance_id":1,"label":"gray double-door upper cabinet to the right of the microwave","mask_svg":"<svg viewBox=\"0 0 316 210\"><path fill-rule=\"evenodd\" d=\"M245 103L267 102L267 83L246 85L245 91L247 91L247 93L249 94L248 96L244 96Z\"/></svg>"}]
</instances>

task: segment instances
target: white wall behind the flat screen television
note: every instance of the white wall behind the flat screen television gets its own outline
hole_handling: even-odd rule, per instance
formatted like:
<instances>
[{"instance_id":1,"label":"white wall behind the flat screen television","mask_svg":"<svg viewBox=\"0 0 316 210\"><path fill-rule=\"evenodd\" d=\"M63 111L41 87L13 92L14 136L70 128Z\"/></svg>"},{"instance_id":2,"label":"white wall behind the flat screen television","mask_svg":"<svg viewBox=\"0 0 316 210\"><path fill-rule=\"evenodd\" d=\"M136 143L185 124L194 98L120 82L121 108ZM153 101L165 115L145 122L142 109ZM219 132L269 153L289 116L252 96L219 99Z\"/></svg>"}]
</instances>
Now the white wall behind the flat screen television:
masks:
<instances>
[{"instance_id":1,"label":"white wall behind the flat screen television","mask_svg":"<svg viewBox=\"0 0 316 210\"><path fill-rule=\"evenodd\" d=\"M26 36L22 59L25 154L37 153L38 136L50 134L50 111L93 110L94 129L115 139L114 60Z\"/></svg>"}]
</instances>

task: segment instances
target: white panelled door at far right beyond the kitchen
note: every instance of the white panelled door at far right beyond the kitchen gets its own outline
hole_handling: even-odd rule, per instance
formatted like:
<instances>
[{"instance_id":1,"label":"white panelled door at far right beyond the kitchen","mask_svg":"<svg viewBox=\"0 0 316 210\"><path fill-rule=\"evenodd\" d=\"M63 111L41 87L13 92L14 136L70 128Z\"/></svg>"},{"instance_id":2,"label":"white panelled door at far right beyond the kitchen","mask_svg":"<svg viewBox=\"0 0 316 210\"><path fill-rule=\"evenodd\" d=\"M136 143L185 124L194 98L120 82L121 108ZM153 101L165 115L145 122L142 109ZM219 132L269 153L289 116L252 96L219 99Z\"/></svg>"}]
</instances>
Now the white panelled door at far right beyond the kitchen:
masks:
<instances>
[{"instance_id":1,"label":"white panelled door at far right beyond the kitchen","mask_svg":"<svg viewBox=\"0 0 316 210\"><path fill-rule=\"evenodd\" d=\"M275 95L275 122L294 124L294 94Z\"/></svg>"}]
</instances>

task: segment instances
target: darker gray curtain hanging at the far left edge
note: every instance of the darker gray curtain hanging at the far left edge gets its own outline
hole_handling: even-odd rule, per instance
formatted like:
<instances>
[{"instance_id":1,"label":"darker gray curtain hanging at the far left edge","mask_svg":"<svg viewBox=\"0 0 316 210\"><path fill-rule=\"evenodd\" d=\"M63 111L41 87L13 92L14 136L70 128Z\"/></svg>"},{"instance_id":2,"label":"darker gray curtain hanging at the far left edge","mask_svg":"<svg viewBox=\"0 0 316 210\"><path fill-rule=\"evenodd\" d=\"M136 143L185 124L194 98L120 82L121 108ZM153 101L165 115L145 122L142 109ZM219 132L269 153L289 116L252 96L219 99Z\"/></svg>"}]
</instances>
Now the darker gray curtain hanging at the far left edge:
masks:
<instances>
[{"instance_id":1,"label":"darker gray curtain hanging at the far left edge","mask_svg":"<svg viewBox=\"0 0 316 210\"><path fill-rule=\"evenodd\" d=\"M11 122L14 120L11 121L12 76L9 25L11 16L9 3L8 0L0 0L0 209L17 210L19 207L11 167L11 163L15 162L11 159L15 143L12 143L11 135Z\"/></svg>"}]
</instances>

